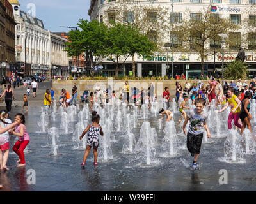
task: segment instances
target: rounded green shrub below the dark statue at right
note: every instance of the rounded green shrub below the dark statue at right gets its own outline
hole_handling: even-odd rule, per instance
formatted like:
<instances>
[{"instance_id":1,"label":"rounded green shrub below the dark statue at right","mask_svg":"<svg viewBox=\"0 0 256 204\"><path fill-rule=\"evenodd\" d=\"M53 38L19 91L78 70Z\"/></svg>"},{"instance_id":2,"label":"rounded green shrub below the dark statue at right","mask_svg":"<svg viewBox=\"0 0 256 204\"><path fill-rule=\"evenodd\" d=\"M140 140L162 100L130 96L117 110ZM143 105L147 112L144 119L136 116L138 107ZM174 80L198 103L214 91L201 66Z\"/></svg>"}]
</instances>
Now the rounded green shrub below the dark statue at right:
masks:
<instances>
[{"instance_id":1,"label":"rounded green shrub below the dark statue at right","mask_svg":"<svg viewBox=\"0 0 256 204\"><path fill-rule=\"evenodd\" d=\"M236 61L227 64L224 68L224 78L226 79L246 79L248 77L249 71L248 66L245 62Z\"/></svg>"}]
</instances>

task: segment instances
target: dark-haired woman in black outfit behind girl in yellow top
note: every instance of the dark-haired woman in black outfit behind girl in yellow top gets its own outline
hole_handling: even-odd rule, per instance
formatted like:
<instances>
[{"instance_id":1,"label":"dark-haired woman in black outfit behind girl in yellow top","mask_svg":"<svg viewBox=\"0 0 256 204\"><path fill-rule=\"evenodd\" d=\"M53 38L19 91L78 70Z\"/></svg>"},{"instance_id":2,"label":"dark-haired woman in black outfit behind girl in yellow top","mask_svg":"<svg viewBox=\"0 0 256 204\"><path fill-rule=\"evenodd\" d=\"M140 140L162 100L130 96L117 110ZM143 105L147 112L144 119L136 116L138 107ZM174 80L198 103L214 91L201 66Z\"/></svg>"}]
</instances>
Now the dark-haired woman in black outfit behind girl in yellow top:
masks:
<instances>
[{"instance_id":1,"label":"dark-haired woman in black outfit behind girl in yellow top","mask_svg":"<svg viewBox=\"0 0 256 204\"><path fill-rule=\"evenodd\" d=\"M245 127L247 126L250 132L252 133L252 126L250 120L252 120L252 115L249 113L250 111L250 98L252 98L252 92L247 91L244 94L244 99L242 101L242 110L239 115L241 121L242 121L242 128L241 128L241 135L243 135L243 131Z\"/></svg>"}]
</instances>

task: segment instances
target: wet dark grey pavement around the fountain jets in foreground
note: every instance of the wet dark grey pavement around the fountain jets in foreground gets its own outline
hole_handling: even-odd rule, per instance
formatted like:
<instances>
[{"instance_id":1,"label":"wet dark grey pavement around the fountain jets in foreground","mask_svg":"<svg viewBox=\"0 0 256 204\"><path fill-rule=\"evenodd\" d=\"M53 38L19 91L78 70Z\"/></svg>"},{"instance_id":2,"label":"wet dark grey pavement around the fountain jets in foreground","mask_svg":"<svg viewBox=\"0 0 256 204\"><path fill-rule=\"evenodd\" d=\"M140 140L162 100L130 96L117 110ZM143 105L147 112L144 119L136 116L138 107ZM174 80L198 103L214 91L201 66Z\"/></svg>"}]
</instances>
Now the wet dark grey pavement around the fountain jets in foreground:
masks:
<instances>
[{"instance_id":1,"label":"wet dark grey pavement around the fountain jets in foreground","mask_svg":"<svg viewBox=\"0 0 256 204\"><path fill-rule=\"evenodd\" d=\"M81 107L80 107L81 108ZM11 118L20 112L20 107L13 107ZM50 112L51 113L51 112ZM174 157L160 157L161 145L164 137L163 129L159 129L157 117L138 119L140 126L132 129L136 142L140 136L142 123L149 120L157 131L157 145L155 164L142 165L134 154L122 154L124 135L115 134L115 142L111 143L113 159L102 161L98 159L98 166L93 166L93 152L91 151L86 167L81 168L84 150L74 150L77 145L72 141L72 133L60 135L58 140L58 156L50 155L51 145L47 133L39 133L37 121L40 120L41 107L33 106L26 113L26 128L31 138L28 152L25 154L26 167L17 168L17 155L10 150L7 166L9 171L0 173L0 184L4 187L0 191L255 191L256 164L255 154L245 155L246 163L225 163L221 161L224 155L225 138L211 138L211 143L202 143L199 157L200 168L191 170L189 165L193 161L186 150L186 137L179 135L184 148ZM177 120L179 113L175 113L175 126L180 132ZM56 122L49 116L49 126L60 128L60 114L56 115ZM75 127L76 122L70 122ZM61 131L61 130L60 130ZM11 136L12 148L15 138ZM228 184L220 185L220 170L227 170ZM32 172L32 173L31 173ZM30 175L35 173L35 184L31 184ZM33 180L33 179L32 179Z\"/></svg>"}]
</instances>

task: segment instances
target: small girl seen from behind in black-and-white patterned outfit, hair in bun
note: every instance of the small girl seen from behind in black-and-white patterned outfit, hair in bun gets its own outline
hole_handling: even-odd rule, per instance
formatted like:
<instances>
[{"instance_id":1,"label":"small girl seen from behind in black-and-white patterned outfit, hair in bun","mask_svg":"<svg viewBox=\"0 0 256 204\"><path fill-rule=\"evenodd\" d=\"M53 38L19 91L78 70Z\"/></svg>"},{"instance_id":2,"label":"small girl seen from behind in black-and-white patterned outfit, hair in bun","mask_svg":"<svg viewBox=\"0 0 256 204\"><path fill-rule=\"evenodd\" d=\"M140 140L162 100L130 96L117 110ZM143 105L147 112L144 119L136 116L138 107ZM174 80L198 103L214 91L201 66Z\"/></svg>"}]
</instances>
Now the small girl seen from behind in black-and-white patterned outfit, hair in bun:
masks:
<instances>
[{"instance_id":1,"label":"small girl seen from behind in black-and-white patterned outfit, hair in bun","mask_svg":"<svg viewBox=\"0 0 256 204\"><path fill-rule=\"evenodd\" d=\"M82 135L80 136L80 140L84 137L84 135L88 133L88 140L86 145L86 150L84 152L83 163L82 166L85 166L86 159L88 154L90 153L91 148L93 147L93 154L94 154L94 166L97 166L97 158L98 158L98 147L99 147L99 136L104 135L101 126L99 125L100 116L97 112L92 112L92 124L89 124L86 129L84 129Z\"/></svg>"}]
</instances>

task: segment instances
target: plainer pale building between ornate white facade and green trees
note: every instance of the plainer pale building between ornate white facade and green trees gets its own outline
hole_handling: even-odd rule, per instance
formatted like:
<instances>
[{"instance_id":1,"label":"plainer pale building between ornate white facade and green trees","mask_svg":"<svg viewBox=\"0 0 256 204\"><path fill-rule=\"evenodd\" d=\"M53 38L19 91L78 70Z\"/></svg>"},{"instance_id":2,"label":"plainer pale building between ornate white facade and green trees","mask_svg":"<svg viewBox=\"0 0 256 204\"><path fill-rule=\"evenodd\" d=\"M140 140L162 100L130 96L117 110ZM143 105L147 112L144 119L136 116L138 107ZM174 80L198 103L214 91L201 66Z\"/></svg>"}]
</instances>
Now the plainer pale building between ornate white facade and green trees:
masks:
<instances>
[{"instance_id":1,"label":"plainer pale building between ornate white facade and green trees","mask_svg":"<svg viewBox=\"0 0 256 204\"><path fill-rule=\"evenodd\" d=\"M67 52L64 51L67 47L67 38L50 33L51 40L51 76L67 76L69 71L69 61Z\"/></svg>"}]
</instances>

